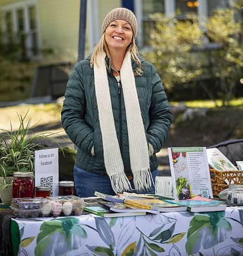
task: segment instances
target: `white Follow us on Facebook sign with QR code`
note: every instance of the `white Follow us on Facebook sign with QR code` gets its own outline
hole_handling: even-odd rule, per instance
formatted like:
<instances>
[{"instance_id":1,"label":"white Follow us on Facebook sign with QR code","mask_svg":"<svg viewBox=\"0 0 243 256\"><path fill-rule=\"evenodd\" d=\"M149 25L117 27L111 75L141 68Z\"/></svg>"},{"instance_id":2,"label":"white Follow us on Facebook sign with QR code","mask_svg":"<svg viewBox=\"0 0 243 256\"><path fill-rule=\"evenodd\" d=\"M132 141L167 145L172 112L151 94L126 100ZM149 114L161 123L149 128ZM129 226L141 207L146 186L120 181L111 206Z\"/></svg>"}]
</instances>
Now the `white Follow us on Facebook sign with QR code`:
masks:
<instances>
[{"instance_id":1,"label":"white Follow us on Facebook sign with QR code","mask_svg":"<svg viewBox=\"0 0 243 256\"><path fill-rule=\"evenodd\" d=\"M51 186L51 196L58 196L58 148L35 150L35 186Z\"/></svg>"}]
</instances>

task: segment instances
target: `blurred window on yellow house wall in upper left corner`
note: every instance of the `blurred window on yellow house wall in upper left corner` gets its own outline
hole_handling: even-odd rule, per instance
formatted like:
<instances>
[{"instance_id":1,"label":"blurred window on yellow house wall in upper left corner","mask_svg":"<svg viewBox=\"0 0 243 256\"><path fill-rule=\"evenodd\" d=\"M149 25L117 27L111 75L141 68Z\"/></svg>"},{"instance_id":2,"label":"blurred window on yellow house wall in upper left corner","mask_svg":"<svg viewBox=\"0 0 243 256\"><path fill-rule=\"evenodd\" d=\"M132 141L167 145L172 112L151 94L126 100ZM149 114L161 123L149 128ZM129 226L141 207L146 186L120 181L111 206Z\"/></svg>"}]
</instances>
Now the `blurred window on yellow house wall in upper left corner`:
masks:
<instances>
[{"instance_id":1,"label":"blurred window on yellow house wall in upper left corner","mask_svg":"<svg viewBox=\"0 0 243 256\"><path fill-rule=\"evenodd\" d=\"M17 2L2 7L5 42L16 43L21 59L36 59L40 54L37 0Z\"/></svg>"}]
</instances>

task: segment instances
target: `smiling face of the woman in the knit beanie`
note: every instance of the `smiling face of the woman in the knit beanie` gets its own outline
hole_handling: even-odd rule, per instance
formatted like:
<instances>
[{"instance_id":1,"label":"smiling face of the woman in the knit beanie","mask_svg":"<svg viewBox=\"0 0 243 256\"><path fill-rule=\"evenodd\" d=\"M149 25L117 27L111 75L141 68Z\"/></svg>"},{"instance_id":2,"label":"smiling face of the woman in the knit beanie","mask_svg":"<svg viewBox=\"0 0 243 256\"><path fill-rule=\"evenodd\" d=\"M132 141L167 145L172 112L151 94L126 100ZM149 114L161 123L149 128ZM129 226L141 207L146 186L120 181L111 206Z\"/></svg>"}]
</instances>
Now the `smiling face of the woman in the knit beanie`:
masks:
<instances>
[{"instance_id":1,"label":"smiling face of the woman in the knit beanie","mask_svg":"<svg viewBox=\"0 0 243 256\"><path fill-rule=\"evenodd\" d=\"M126 51L132 41L132 27L125 20L114 20L106 28L105 40L109 50L122 49Z\"/></svg>"}]
</instances>

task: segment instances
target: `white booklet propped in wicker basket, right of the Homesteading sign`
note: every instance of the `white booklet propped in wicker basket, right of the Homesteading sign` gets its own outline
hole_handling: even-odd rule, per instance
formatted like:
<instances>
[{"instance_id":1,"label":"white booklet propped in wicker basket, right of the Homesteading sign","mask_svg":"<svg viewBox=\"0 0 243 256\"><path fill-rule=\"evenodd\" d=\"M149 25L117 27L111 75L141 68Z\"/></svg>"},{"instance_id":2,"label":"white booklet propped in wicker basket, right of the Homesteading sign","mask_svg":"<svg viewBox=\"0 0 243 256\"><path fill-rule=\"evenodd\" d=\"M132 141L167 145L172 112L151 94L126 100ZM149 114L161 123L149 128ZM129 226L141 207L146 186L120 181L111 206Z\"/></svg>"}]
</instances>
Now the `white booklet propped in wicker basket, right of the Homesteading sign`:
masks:
<instances>
[{"instance_id":1,"label":"white booklet propped in wicker basket, right of the Homesteading sign","mask_svg":"<svg viewBox=\"0 0 243 256\"><path fill-rule=\"evenodd\" d=\"M216 170L238 170L218 148L207 148L208 163Z\"/></svg>"}]
</instances>

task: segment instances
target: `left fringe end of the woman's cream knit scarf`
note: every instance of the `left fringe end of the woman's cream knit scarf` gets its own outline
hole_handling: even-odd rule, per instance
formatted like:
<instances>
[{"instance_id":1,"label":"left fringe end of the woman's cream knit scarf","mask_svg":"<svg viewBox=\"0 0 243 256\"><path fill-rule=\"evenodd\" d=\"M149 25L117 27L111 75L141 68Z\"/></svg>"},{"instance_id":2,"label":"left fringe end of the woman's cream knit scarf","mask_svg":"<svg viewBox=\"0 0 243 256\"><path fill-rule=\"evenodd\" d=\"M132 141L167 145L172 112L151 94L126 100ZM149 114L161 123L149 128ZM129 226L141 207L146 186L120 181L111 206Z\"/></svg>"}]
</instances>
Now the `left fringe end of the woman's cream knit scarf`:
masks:
<instances>
[{"instance_id":1,"label":"left fringe end of the woman's cream knit scarf","mask_svg":"<svg viewBox=\"0 0 243 256\"><path fill-rule=\"evenodd\" d=\"M131 184L124 173L115 173L110 176L111 186L115 193L131 191Z\"/></svg>"}]
</instances>

